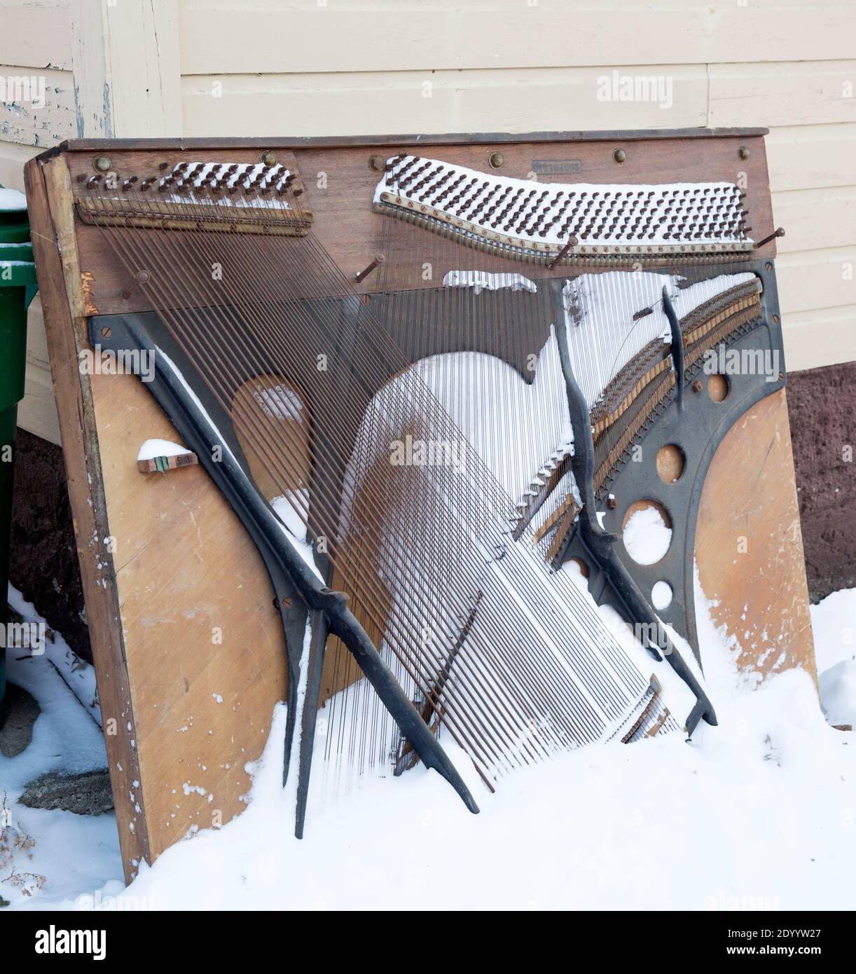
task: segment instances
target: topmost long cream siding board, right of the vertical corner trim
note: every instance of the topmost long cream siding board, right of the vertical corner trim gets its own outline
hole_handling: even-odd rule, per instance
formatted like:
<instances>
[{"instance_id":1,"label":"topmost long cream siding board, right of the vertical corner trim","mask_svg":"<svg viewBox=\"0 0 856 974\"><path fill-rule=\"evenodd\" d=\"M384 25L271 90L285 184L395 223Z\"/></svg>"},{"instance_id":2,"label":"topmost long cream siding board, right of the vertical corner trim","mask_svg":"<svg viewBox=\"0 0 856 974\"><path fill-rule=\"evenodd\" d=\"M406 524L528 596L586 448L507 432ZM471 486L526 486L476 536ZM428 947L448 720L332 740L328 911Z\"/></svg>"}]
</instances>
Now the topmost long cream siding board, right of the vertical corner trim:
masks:
<instances>
[{"instance_id":1,"label":"topmost long cream siding board, right of the vertical corner trim","mask_svg":"<svg viewBox=\"0 0 856 974\"><path fill-rule=\"evenodd\" d=\"M457 0L423 3L222 0L179 7L184 74L590 66L644 71L663 52L686 63L852 56L856 5L661 0L580 7ZM599 60L602 58L602 60Z\"/></svg>"}]
</instances>

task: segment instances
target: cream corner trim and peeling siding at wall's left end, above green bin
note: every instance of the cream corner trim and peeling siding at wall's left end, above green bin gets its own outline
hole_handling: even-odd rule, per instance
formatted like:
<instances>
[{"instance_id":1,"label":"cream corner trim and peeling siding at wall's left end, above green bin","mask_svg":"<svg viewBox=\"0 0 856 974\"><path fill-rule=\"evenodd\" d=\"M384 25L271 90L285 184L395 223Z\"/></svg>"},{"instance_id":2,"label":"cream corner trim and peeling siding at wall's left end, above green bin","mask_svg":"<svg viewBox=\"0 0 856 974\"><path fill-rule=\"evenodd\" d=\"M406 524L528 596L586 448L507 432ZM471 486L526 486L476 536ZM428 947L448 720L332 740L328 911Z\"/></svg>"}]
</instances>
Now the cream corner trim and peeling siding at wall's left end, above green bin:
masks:
<instances>
[{"instance_id":1,"label":"cream corner trim and peeling siding at wall's left end, above green bin","mask_svg":"<svg viewBox=\"0 0 856 974\"><path fill-rule=\"evenodd\" d=\"M0 99L0 183L77 135L180 135L174 0L0 0L0 78L45 78L44 107ZM8 89L8 85L6 86ZM38 298L27 330L19 425L59 442Z\"/></svg>"}]
</instances>

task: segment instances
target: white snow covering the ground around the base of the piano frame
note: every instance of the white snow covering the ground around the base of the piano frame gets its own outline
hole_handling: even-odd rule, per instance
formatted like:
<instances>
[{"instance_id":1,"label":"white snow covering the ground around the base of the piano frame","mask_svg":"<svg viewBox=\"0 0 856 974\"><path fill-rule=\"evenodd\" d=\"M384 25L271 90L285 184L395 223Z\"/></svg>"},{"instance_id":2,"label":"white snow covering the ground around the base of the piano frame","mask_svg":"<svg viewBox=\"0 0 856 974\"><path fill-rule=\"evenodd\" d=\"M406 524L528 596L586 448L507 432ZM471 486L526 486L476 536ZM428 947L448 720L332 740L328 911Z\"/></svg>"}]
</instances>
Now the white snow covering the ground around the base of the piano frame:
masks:
<instances>
[{"instance_id":1,"label":"white snow covering the ground around the base of the piano frame","mask_svg":"<svg viewBox=\"0 0 856 974\"><path fill-rule=\"evenodd\" d=\"M8 882L0 892L24 909L853 909L853 734L824 720L806 673L748 686L700 592L696 605L720 727L690 743L673 733L583 748L516 772L496 795L459 752L480 815L420 767L315 809L298 842L293 795L279 784L280 704L247 809L172 846L127 890L112 815L15 804L40 771L102 766L104 754L92 716L46 656L13 659L11 679L43 713L30 747L0 758L0 797L35 841L16 868L46 881L29 897ZM825 706L850 723L856 589L831 595L812 619Z\"/></svg>"}]
</instances>

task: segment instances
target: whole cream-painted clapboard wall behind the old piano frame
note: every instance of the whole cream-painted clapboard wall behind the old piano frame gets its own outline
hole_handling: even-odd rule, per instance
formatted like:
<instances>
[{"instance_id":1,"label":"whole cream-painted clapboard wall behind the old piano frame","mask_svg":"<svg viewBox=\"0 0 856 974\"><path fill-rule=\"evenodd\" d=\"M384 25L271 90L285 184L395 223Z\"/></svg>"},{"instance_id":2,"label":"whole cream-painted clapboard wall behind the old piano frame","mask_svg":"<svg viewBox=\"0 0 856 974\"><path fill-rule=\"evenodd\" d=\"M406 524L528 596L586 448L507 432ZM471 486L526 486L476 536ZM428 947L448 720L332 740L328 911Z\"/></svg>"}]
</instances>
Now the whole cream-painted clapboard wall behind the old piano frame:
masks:
<instances>
[{"instance_id":1,"label":"whole cream-painted clapboard wall behind the old piano frame","mask_svg":"<svg viewBox=\"0 0 856 974\"><path fill-rule=\"evenodd\" d=\"M852 0L0 0L0 182L74 134L765 126L791 370L856 359ZM4 66L5 65L5 66ZM598 80L670 79L602 101ZM0 110L3 109L0 103ZM56 439L38 306L21 425Z\"/></svg>"}]
</instances>

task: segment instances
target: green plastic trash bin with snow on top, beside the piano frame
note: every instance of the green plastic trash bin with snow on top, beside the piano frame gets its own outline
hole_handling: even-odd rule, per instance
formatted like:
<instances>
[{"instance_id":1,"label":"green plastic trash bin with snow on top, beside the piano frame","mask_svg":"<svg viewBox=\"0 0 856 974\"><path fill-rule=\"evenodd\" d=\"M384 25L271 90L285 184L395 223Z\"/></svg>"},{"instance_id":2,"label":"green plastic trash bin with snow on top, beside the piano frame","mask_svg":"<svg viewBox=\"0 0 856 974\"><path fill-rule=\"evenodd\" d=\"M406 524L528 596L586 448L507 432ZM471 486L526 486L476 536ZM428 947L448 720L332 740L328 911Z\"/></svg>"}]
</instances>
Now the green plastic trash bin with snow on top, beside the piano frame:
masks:
<instances>
[{"instance_id":1,"label":"green plastic trash bin with snow on top, beside the piano frame","mask_svg":"<svg viewBox=\"0 0 856 974\"><path fill-rule=\"evenodd\" d=\"M18 403L23 398L26 310L36 293L26 199L0 186L0 723L6 696L6 634L12 481Z\"/></svg>"}]
</instances>

